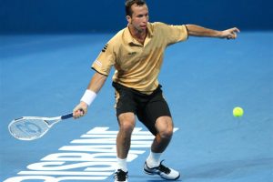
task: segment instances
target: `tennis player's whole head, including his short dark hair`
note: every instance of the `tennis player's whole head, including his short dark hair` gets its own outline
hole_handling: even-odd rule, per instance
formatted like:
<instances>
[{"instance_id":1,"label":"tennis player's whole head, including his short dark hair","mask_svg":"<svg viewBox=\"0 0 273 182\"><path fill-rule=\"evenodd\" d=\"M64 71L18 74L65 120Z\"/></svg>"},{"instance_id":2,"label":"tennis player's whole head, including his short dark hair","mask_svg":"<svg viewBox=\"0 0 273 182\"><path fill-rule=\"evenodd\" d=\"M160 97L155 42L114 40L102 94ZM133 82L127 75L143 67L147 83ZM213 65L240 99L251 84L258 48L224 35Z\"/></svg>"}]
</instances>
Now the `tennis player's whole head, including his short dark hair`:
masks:
<instances>
[{"instance_id":1,"label":"tennis player's whole head, including his short dark hair","mask_svg":"<svg viewBox=\"0 0 273 182\"><path fill-rule=\"evenodd\" d=\"M147 29L149 19L148 8L145 0L127 0L126 1L126 19L130 27L137 31Z\"/></svg>"}]
</instances>

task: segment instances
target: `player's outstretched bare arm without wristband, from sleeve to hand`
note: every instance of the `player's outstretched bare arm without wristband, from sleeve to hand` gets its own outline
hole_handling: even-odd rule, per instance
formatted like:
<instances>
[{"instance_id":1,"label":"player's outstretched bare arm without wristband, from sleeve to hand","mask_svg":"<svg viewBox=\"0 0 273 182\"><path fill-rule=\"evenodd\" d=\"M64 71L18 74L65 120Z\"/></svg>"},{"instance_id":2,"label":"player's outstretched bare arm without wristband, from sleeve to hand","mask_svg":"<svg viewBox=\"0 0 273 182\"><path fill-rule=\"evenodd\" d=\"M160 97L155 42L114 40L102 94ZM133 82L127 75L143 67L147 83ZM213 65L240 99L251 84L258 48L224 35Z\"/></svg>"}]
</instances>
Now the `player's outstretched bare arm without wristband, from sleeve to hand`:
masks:
<instances>
[{"instance_id":1,"label":"player's outstretched bare arm without wristband, from sleeve to hand","mask_svg":"<svg viewBox=\"0 0 273 182\"><path fill-rule=\"evenodd\" d=\"M223 31L213 30L213 29L209 29L199 25L186 25L186 27L187 27L187 34L189 36L206 36L206 37L236 39L237 34L240 32L237 27L229 28Z\"/></svg>"}]
</instances>

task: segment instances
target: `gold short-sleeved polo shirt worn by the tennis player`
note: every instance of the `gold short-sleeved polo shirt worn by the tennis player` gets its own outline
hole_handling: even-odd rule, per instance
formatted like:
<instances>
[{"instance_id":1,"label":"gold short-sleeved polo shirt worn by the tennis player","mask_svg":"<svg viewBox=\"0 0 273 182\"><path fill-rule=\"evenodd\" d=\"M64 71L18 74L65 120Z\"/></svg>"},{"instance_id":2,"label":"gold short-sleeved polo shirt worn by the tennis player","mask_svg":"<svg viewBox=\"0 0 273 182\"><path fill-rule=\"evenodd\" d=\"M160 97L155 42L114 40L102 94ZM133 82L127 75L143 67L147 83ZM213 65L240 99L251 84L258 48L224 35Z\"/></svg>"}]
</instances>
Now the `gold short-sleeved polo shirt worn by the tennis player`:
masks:
<instances>
[{"instance_id":1,"label":"gold short-sleeved polo shirt worn by the tennis player","mask_svg":"<svg viewBox=\"0 0 273 182\"><path fill-rule=\"evenodd\" d=\"M144 94L158 86L158 74L167 45L187 40L186 25L148 23L147 37L141 45L126 27L108 41L92 68L105 76L115 66L113 81Z\"/></svg>"}]
</instances>

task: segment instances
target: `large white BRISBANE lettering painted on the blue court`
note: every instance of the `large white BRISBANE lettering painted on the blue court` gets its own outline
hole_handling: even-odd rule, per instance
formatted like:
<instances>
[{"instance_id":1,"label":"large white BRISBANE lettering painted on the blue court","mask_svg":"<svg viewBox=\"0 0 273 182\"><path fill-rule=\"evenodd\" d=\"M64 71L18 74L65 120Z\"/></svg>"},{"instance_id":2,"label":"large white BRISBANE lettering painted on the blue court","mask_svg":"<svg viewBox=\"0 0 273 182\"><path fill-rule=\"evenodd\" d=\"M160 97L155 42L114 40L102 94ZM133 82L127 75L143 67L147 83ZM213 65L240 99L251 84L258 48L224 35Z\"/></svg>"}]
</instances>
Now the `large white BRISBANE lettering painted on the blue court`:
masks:
<instances>
[{"instance_id":1,"label":"large white BRISBANE lettering painted on the blue court","mask_svg":"<svg viewBox=\"0 0 273 182\"><path fill-rule=\"evenodd\" d=\"M117 131L110 131L108 127L95 127L4 182L106 180L116 169L116 134ZM144 154L154 136L136 127L131 139L127 162Z\"/></svg>"}]
</instances>

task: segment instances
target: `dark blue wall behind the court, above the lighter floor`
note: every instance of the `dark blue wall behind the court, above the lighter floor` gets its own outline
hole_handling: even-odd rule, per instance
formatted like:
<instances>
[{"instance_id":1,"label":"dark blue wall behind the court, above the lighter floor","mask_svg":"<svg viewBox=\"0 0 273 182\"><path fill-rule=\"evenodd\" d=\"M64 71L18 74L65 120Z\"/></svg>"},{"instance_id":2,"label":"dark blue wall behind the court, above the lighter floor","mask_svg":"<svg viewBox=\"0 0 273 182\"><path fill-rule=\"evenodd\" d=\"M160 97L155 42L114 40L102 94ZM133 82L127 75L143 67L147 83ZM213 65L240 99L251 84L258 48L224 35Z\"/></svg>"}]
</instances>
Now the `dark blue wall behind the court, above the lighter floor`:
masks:
<instances>
[{"instance_id":1,"label":"dark blue wall behind the court, above the lighter floor","mask_svg":"<svg viewBox=\"0 0 273 182\"><path fill-rule=\"evenodd\" d=\"M0 34L112 32L126 25L124 0L0 0ZM147 0L150 22L273 29L272 0Z\"/></svg>"}]
</instances>

